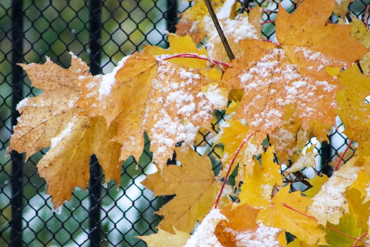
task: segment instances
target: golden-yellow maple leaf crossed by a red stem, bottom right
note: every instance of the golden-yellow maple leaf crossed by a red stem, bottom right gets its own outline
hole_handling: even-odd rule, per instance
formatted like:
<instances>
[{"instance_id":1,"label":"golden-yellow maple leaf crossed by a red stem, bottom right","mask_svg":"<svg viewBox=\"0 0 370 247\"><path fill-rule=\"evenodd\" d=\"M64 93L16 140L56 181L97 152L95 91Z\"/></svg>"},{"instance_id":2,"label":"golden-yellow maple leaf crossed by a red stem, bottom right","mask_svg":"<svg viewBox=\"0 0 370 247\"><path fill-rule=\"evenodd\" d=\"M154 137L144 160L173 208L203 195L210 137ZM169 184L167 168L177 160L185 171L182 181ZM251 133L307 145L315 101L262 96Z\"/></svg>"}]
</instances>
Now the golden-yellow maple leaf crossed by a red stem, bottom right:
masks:
<instances>
[{"instance_id":1,"label":"golden-yellow maple leaf crossed by a red stem, bottom right","mask_svg":"<svg viewBox=\"0 0 370 247\"><path fill-rule=\"evenodd\" d=\"M261 220L266 226L286 230L310 246L326 244L325 233L315 220L283 206L286 204L306 213L312 202L310 198L302 196L300 191L289 193L289 186L280 187L279 192L272 198L271 205L260 211L257 220Z\"/></svg>"}]
</instances>

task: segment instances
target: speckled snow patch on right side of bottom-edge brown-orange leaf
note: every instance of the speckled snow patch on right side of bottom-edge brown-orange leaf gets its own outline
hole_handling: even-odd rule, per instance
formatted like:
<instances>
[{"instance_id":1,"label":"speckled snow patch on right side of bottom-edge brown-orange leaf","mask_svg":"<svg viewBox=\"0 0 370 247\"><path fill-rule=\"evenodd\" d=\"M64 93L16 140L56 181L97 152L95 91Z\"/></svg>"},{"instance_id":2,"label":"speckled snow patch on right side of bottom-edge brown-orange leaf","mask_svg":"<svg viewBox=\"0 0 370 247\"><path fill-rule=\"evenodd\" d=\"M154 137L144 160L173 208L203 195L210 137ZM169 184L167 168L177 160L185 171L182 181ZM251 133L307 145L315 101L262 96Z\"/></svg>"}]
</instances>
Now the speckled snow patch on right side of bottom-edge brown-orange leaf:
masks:
<instances>
[{"instance_id":1,"label":"speckled snow patch on right side of bottom-edge brown-orange leaf","mask_svg":"<svg viewBox=\"0 0 370 247\"><path fill-rule=\"evenodd\" d=\"M268 227L258 222L258 228L255 232L245 231L242 233L234 232L236 246L248 247L278 247L279 241L276 235L280 233L279 228Z\"/></svg>"}]
</instances>

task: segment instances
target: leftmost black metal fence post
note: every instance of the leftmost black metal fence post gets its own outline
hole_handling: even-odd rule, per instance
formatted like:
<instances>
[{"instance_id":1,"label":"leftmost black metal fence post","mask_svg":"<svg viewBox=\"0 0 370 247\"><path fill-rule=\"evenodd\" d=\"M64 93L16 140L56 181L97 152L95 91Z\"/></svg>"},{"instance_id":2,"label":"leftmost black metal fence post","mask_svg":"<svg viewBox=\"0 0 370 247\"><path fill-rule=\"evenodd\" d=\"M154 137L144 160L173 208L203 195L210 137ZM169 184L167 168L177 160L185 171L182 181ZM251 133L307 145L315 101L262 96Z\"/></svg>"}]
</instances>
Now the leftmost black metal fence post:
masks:
<instances>
[{"instance_id":1,"label":"leftmost black metal fence post","mask_svg":"<svg viewBox=\"0 0 370 247\"><path fill-rule=\"evenodd\" d=\"M23 0L13 0L11 4L11 66L12 73L12 101L11 101L11 125L17 124L19 113L16 106L22 99L23 94L23 70L17 63L23 61ZM13 128L13 127L12 127ZM9 222L10 246L22 246L22 155L16 151L11 152L11 220Z\"/></svg>"}]
</instances>

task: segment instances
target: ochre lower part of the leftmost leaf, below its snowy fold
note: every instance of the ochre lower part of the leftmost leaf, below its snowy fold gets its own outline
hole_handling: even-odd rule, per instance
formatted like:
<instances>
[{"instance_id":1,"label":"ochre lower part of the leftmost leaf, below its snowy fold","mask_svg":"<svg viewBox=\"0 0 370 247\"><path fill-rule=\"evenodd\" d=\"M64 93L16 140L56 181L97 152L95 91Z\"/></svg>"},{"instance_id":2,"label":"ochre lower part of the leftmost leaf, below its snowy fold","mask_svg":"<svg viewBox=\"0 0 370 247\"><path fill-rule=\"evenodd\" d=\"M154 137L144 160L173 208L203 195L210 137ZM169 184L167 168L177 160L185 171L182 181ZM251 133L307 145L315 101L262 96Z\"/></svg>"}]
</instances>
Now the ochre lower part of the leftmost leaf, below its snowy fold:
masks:
<instances>
[{"instance_id":1,"label":"ochre lower part of the leftmost leaf, below its snowy fold","mask_svg":"<svg viewBox=\"0 0 370 247\"><path fill-rule=\"evenodd\" d=\"M37 164L38 173L45 178L54 208L69 201L72 191L87 188L90 178L90 156L95 154L103 168L105 182L114 178L121 183L121 164L118 160L121 145L111 141L116 126L107 129L102 117L75 117L67 128L51 140L50 150ZM54 143L55 142L55 143Z\"/></svg>"}]
</instances>

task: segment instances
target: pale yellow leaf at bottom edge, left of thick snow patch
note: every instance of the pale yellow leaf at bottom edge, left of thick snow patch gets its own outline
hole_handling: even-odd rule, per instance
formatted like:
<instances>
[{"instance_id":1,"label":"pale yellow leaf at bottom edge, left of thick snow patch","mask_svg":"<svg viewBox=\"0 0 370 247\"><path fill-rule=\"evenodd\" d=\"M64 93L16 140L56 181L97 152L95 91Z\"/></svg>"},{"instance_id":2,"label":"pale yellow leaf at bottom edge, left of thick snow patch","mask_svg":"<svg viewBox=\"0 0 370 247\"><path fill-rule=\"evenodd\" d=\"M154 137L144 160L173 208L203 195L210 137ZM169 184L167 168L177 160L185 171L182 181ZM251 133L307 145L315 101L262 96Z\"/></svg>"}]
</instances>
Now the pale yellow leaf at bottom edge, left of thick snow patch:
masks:
<instances>
[{"instance_id":1,"label":"pale yellow leaf at bottom edge, left of thick snow patch","mask_svg":"<svg viewBox=\"0 0 370 247\"><path fill-rule=\"evenodd\" d=\"M179 231L175 227L174 231L175 234L171 234L158 228L158 233L148 236L137 236L137 238L144 240L148 247L183 247L191 235L184 231Z\"/></svg>"}]
</instances>

